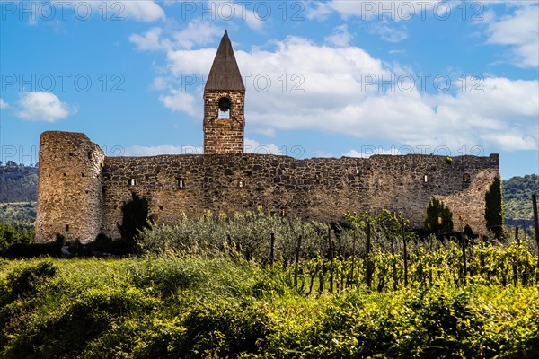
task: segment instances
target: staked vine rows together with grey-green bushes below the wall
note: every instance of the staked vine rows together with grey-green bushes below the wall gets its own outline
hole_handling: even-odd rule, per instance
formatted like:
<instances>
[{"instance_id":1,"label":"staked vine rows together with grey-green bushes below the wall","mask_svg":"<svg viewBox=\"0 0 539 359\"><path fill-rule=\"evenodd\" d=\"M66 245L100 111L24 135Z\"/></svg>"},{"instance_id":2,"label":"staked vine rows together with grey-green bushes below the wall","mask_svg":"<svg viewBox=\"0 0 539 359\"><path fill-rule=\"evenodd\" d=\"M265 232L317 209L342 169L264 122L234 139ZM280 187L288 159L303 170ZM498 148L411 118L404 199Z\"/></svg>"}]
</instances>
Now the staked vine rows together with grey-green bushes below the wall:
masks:
<instances>
[{"instance_id":1,"label":"staked vine rows together with grey-green bushes below the wall","mask_svg":"<svg viewBox=\"0 0 539 359\"><path fill-rule=\"evenodd\" d=\"M433 285L537 285L537 243L526 232L491 240L473 233L420 238L399 215L349 214L328 225L254 213L211 213L175 226L141 232L143 252L182 254L229 251L262 266L281 267L290 283L310 294L366 285L382 292Z\"/></svg>"}]
</instances>

